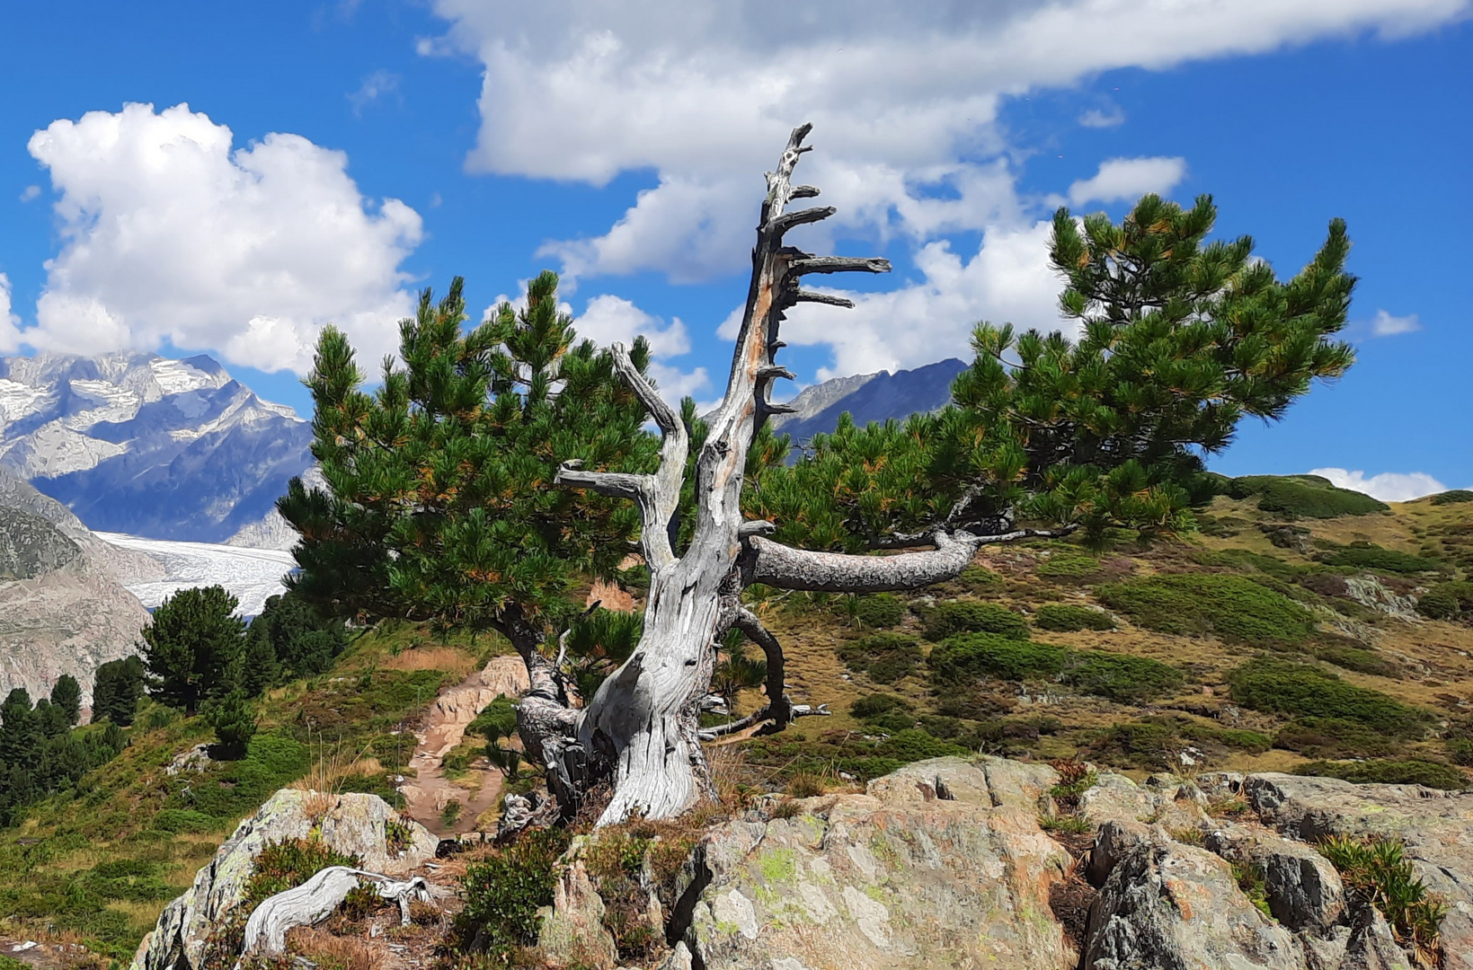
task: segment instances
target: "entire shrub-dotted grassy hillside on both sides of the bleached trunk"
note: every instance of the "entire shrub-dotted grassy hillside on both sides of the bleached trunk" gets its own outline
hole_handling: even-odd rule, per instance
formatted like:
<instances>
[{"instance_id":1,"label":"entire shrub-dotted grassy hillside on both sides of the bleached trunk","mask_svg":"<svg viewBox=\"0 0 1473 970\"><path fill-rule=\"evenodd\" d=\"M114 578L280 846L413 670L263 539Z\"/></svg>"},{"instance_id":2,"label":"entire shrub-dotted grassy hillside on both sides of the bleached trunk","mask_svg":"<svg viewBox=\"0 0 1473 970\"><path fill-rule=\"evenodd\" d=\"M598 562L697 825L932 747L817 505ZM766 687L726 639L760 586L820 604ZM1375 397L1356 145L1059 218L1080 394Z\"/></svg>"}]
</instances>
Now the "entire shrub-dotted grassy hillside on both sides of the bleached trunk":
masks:
<instances>
[{"instance_id":1,"label":"entire shrub-dotted grassy hillside on both sides of the bleached trunk","mask_svg":"<svg viewBox=\"0 0 1473 970\"><path fill-rule=\"evenodd\" d=\"M753 590L794 699L834 715L731 742L747 782L804 792L982 749L1136 773L1466 783L1473 495L1383 506L1309 477L1223 492L1186 539L985 549L924 595ZM496 649L384 624L328 674L270 695L250 755L205 771L166 767L208 729L146 709L119 758L0 832L0 933L53 927L131 954L275 787L396 799L409 729ZM738 709L760 704L745 692Z\"/></svg>"}]
</instances>

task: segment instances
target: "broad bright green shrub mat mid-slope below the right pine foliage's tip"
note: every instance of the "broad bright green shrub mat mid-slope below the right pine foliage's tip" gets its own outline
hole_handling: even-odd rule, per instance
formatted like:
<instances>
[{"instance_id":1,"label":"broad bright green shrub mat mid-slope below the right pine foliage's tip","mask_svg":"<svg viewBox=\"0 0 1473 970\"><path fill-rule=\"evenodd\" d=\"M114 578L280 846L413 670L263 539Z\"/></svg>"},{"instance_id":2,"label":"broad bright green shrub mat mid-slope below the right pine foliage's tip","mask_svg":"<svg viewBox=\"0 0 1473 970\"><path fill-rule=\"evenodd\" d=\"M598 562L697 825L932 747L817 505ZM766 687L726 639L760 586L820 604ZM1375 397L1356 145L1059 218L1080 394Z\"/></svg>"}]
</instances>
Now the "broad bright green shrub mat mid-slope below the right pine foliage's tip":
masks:
<instances>
[{"instance_id":1,"label":"broad bright green shrub mat mid-slope below the right pine foliage's tip","mask_svg":"<svg viewBox=\"0 0 1473 970\"><path fill-rule=\"evenodd\" d=\"M1159 633L1298 643L1314 630L1308 609L1242 576L1152 576L1109 583L1094 592L1111 609Z\"/></svg>"}]
</instances>

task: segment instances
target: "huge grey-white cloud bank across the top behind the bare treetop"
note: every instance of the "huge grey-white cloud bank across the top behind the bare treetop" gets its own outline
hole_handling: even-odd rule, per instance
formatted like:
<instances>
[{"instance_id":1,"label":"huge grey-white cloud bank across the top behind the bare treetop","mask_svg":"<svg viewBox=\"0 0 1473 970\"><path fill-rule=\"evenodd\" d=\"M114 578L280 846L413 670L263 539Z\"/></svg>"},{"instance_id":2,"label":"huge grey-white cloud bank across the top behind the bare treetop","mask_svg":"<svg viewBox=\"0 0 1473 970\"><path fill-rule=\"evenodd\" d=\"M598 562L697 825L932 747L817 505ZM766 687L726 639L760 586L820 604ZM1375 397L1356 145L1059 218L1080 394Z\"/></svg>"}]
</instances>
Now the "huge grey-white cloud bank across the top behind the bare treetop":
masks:
<instances>
[{"instance_id":1,"label":"huge grey-white cloud bank across the top behind the bare treetop","mask_svg":"<svg viewBox=\"0 0 1473 970\"><path fill-rule=\"evenodd\" d=\"M485 65L470 171L594 185L622 172L654 175L607 230L542 249L570 283L739 272L760 172L794 125L815 122L818 152L800 177L838 215L800 230L794 243L819 250L838 236L903 240L924 262L922 280L863 297L857 321L851 314L807 324L812 314L794 315L785 336L832 344L834 368L847 372L965 352L980 316L1047 325L1056 281L1047 280L1046 296L1036 291L1046 253L1038 246L1022 258L1013 249L1018 237L1041 240L1040 200L1018 191L1025 152L996 124L1002 99L1115 68L1167 69L1367 32L1401 37L1464 15L1469 0L792 0L778 21L759 0L432 6L449 29L423 40L420 53L468 53ZM1080 122L1119 118L1100 107ZM1078 205L1165 191L1183 174L1181 159L1112 159L1069 197ZM944 246L931 249L959 231L984 231L984 252L963 262ZM985 253L1005 241L996 259ZM987 266L1019 259L1027 309L1005 300L1010 284L981 283ZM915 337L899 336L912 322ZM943 341L925 347L925 336Z\"/></svg>"}]
</instances>

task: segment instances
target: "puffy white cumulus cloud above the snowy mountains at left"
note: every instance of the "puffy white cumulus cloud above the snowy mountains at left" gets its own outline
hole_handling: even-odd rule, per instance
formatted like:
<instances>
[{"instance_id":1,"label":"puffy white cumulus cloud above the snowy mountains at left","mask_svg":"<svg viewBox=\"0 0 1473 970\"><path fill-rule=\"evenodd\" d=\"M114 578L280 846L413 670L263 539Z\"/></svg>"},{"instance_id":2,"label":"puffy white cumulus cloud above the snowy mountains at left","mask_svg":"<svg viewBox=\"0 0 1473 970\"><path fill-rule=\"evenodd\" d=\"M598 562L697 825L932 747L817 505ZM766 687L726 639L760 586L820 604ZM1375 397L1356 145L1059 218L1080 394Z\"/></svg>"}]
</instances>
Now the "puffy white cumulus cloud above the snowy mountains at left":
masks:
<instances>
[{"instance_id":1,"label":"puffy white cumulus cloud above the snowy mountains at left","mask_svg":"<svg viewBox=\"0 0 1473 970\"><path fill-rule=\"evenodd\" d=\"M60 253L47 262L38 350L211 349L305 372L326 322L370 367L412 309L399 263L418 213L374 203L348 157L293 134L234 149L187 105L125 105L56 121L28 149L57 193Z\"/></svg>"}]
</instances>

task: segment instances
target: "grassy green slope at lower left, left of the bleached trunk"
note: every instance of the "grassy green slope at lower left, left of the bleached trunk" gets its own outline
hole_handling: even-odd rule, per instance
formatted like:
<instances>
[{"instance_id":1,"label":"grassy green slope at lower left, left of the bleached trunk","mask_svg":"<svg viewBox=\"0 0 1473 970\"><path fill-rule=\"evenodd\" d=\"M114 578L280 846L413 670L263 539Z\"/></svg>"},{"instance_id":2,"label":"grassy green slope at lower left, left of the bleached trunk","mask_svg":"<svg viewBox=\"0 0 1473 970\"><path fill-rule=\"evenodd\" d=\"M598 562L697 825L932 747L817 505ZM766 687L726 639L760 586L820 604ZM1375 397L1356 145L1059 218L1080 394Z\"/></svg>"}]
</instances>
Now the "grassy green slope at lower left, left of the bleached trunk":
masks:
<instances>
[{"instance_id":1,"label":"grassy green slope at lower left, left of the bleached trunk","mask_svg":"<svg viewBox=\"0 0 1473 970\"><path fill-rule=\"evenodd\" d=\"M168 771L177 755L212 740L203 718L146 707L116 760L0 830L0 933L131 957L164 904L278 787L299 782L396 801L393 776L407 771L421 711L495 649L486 637L442 643L409 624L382 624L328 674L268 695L249 755L203 771Z\"/></svg>"}]
</instances>

